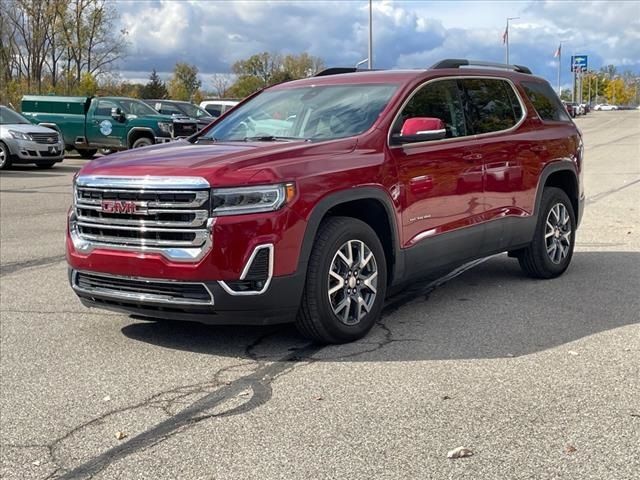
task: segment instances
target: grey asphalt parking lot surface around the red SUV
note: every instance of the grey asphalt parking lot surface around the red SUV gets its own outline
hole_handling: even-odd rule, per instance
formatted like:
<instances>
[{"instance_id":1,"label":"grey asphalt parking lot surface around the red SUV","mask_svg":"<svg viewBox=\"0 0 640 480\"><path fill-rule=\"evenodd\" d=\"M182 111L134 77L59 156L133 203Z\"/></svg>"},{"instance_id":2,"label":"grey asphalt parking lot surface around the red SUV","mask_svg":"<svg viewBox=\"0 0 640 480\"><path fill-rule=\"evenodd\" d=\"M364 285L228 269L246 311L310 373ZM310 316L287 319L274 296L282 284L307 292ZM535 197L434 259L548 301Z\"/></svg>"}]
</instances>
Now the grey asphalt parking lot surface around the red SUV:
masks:
<instances>
[{"instance_id":1,"label":"grey asphalt parking lot surface around the red SUV","mask_svg":"<svg viewBox=\"0 0 640 480\"><path fill-rule=\"evenodd\" d=\"M63 247L84 161L0 173L0 476L638 478L640 111L577 123L587 210L564 276L495 256L324 348L84 308Z\"/></svg>"}]
</instances>

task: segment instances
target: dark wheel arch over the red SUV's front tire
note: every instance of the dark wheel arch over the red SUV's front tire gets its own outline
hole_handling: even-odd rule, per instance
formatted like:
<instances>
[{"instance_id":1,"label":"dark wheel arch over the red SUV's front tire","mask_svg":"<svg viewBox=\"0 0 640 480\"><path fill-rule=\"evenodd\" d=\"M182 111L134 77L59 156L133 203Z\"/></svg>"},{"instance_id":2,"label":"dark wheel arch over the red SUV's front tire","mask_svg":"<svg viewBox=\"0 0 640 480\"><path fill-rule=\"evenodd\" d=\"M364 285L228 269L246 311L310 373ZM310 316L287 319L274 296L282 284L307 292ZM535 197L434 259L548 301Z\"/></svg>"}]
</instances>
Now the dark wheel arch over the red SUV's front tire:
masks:
<instances>
[{"instance_id":1,"label":"dark wheel arch over the red SUV's front tire","mask_svg":"<svg viewBox=\"0 0 640 480\"><path fill-rule=\"evenodd\" d=\"M318 229L322 221L331 216L356 218L369 225L380 238L387 260L387 283L391 285L404 270L403 256L399 254L400 241L395 209L389 195L377 187L358 187L324 197L307 220L298 271L306 272Z\"/></svg>"}]
</instances>

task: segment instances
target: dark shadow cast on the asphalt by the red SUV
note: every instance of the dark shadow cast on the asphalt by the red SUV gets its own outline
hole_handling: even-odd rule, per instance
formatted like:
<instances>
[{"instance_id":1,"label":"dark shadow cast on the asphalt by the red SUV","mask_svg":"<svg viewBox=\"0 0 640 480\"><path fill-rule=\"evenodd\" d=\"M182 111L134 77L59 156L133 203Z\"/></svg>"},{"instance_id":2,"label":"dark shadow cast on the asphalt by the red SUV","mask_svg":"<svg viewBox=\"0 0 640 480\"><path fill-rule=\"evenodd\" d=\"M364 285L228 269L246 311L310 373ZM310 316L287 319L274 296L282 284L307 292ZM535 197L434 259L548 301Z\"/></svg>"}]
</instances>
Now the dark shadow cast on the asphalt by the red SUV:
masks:
<instances>
[{"instance_id":1,"label":"dark shadow cast on the asphalt by the red SUV","mask_svg":"<svg viewBox=\"0 0 640 480\"><path fill-rule=\"evenodd\" d=\"M506 255L448 283L391 299L380 325L346 345L314 350L315 360L410 361L521 356L640 323L640 253L576 252L554 280L525 277ZM221 327L139 322L127 337L211 355L279 360L308 345L291 325Z\"/></svg>"}]
</instances>

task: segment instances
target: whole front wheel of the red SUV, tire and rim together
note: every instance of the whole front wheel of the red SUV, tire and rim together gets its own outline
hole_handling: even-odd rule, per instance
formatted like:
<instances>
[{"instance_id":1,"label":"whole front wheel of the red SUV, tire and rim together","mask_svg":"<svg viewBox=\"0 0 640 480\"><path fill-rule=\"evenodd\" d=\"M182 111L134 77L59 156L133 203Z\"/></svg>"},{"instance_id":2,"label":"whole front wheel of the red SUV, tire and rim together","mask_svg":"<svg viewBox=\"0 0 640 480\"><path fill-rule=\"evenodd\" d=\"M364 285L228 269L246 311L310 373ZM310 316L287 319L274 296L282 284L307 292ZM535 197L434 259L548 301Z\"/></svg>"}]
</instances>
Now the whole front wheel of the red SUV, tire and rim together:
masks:
<instances>
[{"instance_id":1,"label":"whole front wheel of the red SUV, tire and rim together","mask_svg":"<svg viewBox=\"0 0 640 480\"><path fill-rule=\"evenodd\" d=\"M384 249L373 229L355 218L331 217L313 245L296 327L317 343L362 338L382 314L386 287Z\"/></svg>"}]
</instances>

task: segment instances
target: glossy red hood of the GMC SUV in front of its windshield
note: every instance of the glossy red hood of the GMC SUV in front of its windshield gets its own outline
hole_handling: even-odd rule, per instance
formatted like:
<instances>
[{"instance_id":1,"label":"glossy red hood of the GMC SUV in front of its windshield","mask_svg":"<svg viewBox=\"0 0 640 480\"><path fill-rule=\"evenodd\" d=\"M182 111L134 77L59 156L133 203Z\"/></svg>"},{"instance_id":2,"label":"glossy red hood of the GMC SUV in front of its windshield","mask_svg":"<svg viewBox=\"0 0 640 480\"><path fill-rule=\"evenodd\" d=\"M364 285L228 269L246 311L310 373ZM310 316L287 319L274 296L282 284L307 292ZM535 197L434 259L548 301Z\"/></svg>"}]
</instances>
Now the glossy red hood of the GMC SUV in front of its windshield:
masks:
<instances>
[{"instance_id":1,"label":"glossy red hood of the GMC SUV in front of its windshield","mask_svg":"<svg viewBox=\"0 0 640 480\"><path fill-rule=\"evenodd\" d=\"M180 140L97 158L80 174L199 176L206 178L212 186L240 185L252 181L282 180L283 175L304 168L302 159L315 161L345 154L353 151L356 144L355 138L320 143L301 140L201 145Z\"/></svg>"}]
</instances>

